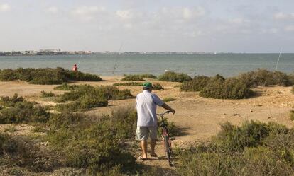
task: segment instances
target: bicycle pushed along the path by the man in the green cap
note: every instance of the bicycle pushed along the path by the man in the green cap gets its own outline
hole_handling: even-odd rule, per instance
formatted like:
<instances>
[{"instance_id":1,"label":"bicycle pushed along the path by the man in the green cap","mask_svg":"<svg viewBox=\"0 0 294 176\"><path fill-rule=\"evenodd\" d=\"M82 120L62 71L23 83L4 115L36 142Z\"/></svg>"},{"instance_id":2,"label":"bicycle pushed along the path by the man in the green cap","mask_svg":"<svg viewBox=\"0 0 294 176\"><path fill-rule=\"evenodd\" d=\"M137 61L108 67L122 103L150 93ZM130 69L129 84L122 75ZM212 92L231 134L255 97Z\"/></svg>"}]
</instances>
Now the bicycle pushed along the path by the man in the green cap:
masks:
<instances>
[{"instance_id":1,"label":"bicycle pushed along the path by the man in the green cap","mask_svg":"<svg viewBox=\"0 0 294 176\"><path fill-rule=\"evenodd\" d=\"M162 127L161 137L163 138L163 146L165 149L165 156L168 158L168 164L173 166L171 156L172 156L172 148L171 148L171 139L170 135L168 134L168 123L165 119L163 119L163 115L170 113L171 111L166 111L161 114L156 114L161 117L161 124L159 127Z\"/></svg>"}]
</instances>

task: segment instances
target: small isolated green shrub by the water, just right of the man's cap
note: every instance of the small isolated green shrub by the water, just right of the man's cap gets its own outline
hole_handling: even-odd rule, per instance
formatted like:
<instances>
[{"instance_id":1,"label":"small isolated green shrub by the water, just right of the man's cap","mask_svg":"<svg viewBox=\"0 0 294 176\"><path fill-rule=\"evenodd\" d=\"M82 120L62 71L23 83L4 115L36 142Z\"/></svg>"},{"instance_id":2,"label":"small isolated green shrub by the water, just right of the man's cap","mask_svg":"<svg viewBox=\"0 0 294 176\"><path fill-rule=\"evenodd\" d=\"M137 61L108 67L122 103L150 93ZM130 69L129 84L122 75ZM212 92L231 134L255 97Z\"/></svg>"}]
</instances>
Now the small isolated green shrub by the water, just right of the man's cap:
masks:
<instances>
[{"instance_id":1,"label":"small isolated green shrub by the water, just right of the man's cap","mask_svg":"<svg viewBox=\"0 0 294 176\"><path fill-rule=\"evenodd\" d=\"M164 74L158 76L160 81L171 81L171 82L185 82L190 81L192 78L187 74L179 74L173 71L166 71Z\"/></svg>"}]
</instances>

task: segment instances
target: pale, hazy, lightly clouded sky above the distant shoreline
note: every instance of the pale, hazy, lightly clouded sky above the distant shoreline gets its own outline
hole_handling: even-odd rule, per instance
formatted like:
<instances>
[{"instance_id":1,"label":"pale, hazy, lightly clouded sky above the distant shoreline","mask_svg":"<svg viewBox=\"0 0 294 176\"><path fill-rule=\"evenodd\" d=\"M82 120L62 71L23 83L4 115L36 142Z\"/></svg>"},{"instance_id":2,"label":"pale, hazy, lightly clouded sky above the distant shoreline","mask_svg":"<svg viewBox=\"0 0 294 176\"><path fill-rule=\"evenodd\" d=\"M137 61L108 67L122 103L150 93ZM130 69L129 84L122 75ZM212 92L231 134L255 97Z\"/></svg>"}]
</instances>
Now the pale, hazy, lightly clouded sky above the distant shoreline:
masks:
<instances>
[{"instance_id":1,"label":"pale, hazy, lightly clouded sky above the distant shoreline","mask_svg":"<svg viewBox=\"0 0 294 176\"><path fill-rule=\"evenodd\" d=\"M294 52L293 0L0 0L0 51Z\"/></svg>"}]
</instances>

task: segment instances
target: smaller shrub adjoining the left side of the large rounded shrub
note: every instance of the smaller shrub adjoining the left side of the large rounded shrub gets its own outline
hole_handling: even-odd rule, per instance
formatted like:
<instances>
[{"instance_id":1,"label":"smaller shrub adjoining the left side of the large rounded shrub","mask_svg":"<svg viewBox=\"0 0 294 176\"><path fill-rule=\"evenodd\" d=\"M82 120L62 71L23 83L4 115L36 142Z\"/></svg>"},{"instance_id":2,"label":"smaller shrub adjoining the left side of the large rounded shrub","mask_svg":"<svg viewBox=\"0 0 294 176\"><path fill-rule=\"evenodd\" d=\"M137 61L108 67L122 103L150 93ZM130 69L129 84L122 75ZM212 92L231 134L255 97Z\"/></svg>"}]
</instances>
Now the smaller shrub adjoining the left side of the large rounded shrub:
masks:
<instances>
[{"instance_id":1,"label":"smaller shrub adjoining the left side of the large rounded shrub","mask_svg":"<svg viewBox=\"0 0 294 176\"><path fill-rule=\"evenodd\" d=\"M209 83L210 78L207 76L195 76L191 81L186 81L180 86L182 91L200 91L202 88L205 88Z\"/></svg>"}]
</instances>

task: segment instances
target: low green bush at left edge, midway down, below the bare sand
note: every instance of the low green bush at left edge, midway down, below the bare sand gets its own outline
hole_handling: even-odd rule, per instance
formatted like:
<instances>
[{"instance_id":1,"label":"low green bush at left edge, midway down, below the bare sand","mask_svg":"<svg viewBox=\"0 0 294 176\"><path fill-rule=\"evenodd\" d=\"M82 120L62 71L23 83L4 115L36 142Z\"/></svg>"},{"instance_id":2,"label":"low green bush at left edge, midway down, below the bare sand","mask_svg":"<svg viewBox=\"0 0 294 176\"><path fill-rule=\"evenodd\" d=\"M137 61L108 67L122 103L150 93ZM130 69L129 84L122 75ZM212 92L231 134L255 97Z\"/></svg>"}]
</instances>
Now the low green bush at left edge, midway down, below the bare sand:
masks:
<instances>
[{"instance_id":1,"label":"low green bush at left edge, midway down, below the bare sand","mask_svg":"<svg viewBox=\"0 0 294 176\"><path fill-rule=\"evenodd\" d=\"M47 122L50 117L44 107L25 101L17 94L13 98L2 97L0 103L4 105L0 110L1 124Z\"/></svg>"}]
</instances>

